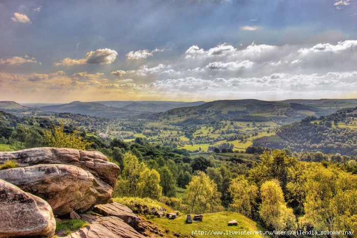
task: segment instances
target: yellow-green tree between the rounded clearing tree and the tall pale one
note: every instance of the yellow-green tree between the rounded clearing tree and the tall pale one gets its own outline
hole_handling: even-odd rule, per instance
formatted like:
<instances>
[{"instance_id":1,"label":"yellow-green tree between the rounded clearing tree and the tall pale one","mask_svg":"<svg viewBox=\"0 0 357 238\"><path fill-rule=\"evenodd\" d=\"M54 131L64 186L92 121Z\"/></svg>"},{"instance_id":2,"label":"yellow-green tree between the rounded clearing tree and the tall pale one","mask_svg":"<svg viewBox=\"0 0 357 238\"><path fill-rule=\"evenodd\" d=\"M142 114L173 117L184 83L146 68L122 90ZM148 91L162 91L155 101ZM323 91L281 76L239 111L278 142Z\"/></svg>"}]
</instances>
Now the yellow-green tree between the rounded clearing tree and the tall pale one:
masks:
<instances>
[{"instance_id":1,"label":"yellow-green tree between the rounded clearing tree and the tall pale one","mask_svg":"<svg viewBox=\"0 0 357 238\"><path fill-rule=\"evenodd\" d=\"M229 206L244 216L252 218L257 205L258 187L249 183L243 175L239 175L232 180L229 192L233 197L233 202Z\"/></svg>"}]
</instances>

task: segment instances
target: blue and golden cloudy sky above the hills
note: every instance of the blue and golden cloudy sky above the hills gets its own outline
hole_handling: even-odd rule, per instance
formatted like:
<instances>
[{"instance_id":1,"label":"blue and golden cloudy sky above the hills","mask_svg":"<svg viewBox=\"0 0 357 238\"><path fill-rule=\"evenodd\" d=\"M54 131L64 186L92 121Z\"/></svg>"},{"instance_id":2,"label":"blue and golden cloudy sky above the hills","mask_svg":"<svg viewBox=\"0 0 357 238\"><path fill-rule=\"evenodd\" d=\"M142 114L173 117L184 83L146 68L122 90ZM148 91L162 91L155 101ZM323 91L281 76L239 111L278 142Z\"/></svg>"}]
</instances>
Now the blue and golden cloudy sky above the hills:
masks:
<instances>
[{"instance_id":1,"label":"blue and golden cloudy sky above the hills","mask_svg":"<svg viewBox=\"0 0 357 238\"><path fill-rule=\"evenodd\" d=\"M357 0L0 0L0 101L357 98Z\"/></svg>"}]
</instances>

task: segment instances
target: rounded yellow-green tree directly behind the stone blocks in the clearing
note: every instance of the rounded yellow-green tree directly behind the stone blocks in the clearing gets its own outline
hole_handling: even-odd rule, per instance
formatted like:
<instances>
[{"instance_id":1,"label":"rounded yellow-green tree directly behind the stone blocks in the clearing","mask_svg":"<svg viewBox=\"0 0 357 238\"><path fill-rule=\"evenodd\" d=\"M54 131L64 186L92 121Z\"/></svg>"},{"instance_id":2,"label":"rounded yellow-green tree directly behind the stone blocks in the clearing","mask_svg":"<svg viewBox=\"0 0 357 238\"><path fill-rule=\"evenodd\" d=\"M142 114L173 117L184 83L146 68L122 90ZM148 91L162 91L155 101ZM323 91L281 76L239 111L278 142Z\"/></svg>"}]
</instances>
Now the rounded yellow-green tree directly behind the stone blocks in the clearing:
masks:
<instances>
[{"instance_id":1,"label":"rounded yellow-green tree directly behind the stone blocks in the clearing","mask_svg":"<svg viewBox=\"0 0 357 238\"><path fill-rule=\"evenodd\" d=\"M220 197L217 184L199 171L198 176L193 176L187 185L185 200L191 212L215 212L223 210Z\"/></svg>"}]
</instances>

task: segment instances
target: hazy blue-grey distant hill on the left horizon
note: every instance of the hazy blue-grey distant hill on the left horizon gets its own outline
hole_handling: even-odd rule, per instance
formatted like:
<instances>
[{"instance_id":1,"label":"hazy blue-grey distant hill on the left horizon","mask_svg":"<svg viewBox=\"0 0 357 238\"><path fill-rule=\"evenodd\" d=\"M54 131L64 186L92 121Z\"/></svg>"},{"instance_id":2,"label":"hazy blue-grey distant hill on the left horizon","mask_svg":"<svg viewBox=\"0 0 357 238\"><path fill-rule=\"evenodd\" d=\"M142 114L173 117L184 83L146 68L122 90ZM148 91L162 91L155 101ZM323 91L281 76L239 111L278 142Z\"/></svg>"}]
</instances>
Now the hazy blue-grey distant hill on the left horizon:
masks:
<instances>
[{"instance_id":1,"label":"hazy blue-grey distant hill on the left horizon","mask_svg":"<svg viewBox=\"0 0 357 238\"><path fill-rule=\"evenodd\" d=\"M116 107L108 107L100 103L85 103L75 101L68 104L40 107L44 111L79 113L90 116L102 117L127 117L131 112Z\"/></svg>"}]
</instances>

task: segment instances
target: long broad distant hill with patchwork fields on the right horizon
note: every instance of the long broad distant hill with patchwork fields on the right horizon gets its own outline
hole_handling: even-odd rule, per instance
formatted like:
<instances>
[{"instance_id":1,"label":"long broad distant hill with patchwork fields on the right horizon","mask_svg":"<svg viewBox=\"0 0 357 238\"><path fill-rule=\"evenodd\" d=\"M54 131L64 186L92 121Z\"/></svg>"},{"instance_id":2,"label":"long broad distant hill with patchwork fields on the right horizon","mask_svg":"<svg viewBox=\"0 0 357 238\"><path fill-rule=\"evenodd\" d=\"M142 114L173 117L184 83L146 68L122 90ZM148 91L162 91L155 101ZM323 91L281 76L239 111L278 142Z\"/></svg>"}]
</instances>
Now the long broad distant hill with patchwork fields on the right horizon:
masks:
<instances>
[{"instance_id":1,"label":"long broad distant hill with patchwork fields on the right horizon","mask_svg":"<svg viewBox=\"0 0 357 238\"><path fill-rule=\"evenodd\" d=\"M287 100L287 101L260 101L260 100L221 100L204 103L199 106L175 108L157 114L155 119L171 123L182 122L188 118L195 118L197 122L208 121L239 121L239 122L274 122L278 125L300 121L306 116L328 115L335 109L345 105L357 106L357 100L337 100L337 103L326 105L320 100ZM314 103L315 102L315 103ZM334 108L334 109L331 109ZM200 120L197 120L200 119ZM193 122L193 121L192 121ZM196 124L197 125L197 124ZM198 124L200 125L200 124Z\"/></svg>"}]
</instances>

